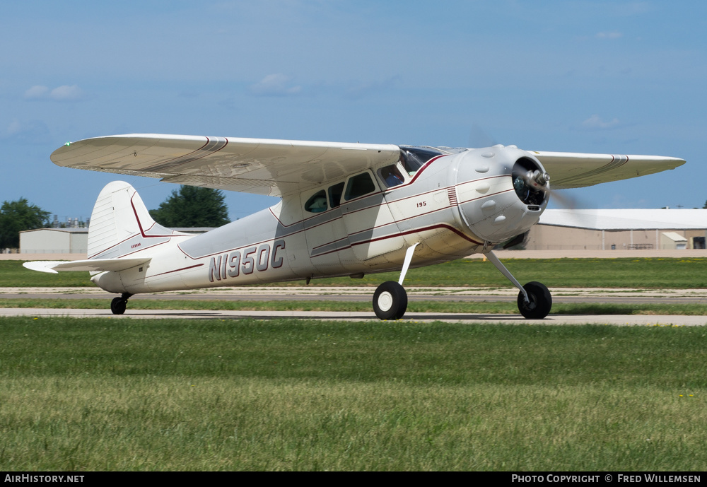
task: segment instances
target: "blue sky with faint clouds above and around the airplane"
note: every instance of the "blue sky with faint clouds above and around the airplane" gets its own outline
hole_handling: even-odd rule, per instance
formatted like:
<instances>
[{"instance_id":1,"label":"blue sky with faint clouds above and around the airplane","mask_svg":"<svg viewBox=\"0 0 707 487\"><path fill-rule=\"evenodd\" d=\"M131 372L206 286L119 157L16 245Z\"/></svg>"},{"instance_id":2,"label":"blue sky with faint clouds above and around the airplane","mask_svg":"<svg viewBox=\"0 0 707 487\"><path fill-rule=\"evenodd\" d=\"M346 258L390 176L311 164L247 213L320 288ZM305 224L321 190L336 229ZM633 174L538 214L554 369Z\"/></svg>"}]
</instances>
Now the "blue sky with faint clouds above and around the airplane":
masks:
<instances>
[{"instance_id":1,"label":"blue sky with faint clouds above and around the airplane","mask_svg":"<svg viewBox=\"0 0 707 487\"><path fill-rule=\"evenodd\" d=\"M701 1L2 2L0 201L88 217L115 175L49 154L167 133L675 156L564 194L701 208L706 19ZM175 189L122 179L151 209ZM227 195L231 218L276 201Z\"/></svg>"}]
</instances>

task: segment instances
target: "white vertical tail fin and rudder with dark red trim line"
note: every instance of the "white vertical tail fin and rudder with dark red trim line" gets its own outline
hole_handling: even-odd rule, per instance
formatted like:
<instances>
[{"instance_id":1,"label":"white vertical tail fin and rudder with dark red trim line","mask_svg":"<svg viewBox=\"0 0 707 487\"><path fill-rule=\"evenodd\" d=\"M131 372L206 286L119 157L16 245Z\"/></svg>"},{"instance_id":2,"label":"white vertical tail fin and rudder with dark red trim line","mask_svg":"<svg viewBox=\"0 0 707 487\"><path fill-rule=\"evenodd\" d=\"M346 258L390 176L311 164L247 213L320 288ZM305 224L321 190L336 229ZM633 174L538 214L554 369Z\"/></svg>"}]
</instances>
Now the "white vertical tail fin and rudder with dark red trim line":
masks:
<instances>
[{"instance_id":1,"label":"white vertical tail fin and rudder with dark red trim line","mask_svg":"<svg viewBox=\"0 0 707 487\"><path fill-rule=\"evenodd\" d=\"M108 183L98 195L88 226L88 258L119 259L185 235L156 223L127 182Z\"/></svg>"}]
</instances>

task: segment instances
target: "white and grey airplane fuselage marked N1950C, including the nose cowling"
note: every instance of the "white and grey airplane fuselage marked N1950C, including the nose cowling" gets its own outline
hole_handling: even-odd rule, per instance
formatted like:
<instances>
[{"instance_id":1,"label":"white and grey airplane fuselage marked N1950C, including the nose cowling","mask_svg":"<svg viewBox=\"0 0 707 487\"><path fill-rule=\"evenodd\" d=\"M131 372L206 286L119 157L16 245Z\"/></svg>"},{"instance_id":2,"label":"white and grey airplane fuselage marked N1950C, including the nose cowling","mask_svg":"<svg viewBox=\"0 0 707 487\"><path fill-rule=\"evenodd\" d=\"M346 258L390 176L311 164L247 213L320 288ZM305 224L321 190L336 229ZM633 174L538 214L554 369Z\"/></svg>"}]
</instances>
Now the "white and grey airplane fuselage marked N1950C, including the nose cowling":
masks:
<instances>
[{"instance_id":1,"label":"white and grey airplane fuselage marked N1950C, including the nose cowling","mask_svg":"<svg viewBox=\"0 0 707 487\"><path fill-rule=\"evenodd\" d=\"M442 154L414 172L398 163L404 180L390 187L381 168L373 168L285 196L202 235L151 242L146 230L141 240L126 242L120 257L148 255L151 262L93 281L136 294L398 271L416 243L413 267L483 252L527 231L547 206L545 196L523 201L513 176L519 159L542 171L513 146ZM358 196L355 187L348 194L356 177L366 180L366 194ZM315 207L320 194L328 195L323 209Z\"/></svg>"}]
</instances>

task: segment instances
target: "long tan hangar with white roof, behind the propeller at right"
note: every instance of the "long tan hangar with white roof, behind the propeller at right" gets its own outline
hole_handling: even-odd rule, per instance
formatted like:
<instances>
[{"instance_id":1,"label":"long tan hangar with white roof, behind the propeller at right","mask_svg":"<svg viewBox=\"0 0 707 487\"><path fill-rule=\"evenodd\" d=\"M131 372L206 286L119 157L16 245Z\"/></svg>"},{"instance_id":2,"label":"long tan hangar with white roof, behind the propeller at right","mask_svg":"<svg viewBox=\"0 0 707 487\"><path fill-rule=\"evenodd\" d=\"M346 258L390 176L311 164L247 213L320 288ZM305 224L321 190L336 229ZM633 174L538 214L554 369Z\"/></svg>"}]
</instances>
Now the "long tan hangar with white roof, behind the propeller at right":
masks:
<instances>
[{"instance_id":1,"label":"long tan hangar with white roof, behind the propeller at right","mask_svg":"<svg viewBox=\"0 0 707 487\"><path fill-rule=\"evenodd\" d=\"M707 209L546 210L527 250L704 249Z\"/></svg>"}]
</instances>

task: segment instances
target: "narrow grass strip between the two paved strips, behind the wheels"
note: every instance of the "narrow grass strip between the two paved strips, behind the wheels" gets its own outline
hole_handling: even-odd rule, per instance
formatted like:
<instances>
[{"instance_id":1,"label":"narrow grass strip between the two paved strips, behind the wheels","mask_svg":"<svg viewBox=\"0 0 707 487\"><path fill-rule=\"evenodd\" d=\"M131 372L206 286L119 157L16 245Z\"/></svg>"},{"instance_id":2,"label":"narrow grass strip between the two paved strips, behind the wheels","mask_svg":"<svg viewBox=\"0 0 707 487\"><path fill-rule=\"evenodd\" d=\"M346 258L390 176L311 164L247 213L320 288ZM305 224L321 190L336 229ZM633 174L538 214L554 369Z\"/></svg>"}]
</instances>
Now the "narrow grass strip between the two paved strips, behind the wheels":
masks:
<instances>
[{"instance_id":1,"label":"narrow grass strip between the two paved strips, behind the wheels","mask_svg":"<svg viewBox=\"0 0 707 487\"><path fill-rule=\"evenodd\" d=\"M110 306L103 299L23 299L0 298L0 308L52 308L103 310ZM450 299L454 299L450 297ZM231 300L149 300L129 301L129 310L247 310L247 311L366 311L370 301L231 301ZM502 301L410 301L407 312L440 313L512 313L518 314L516 303ZM699 303L555 303L551 315L707 315L707 305Z\"/></svg>"}]
</instances>

